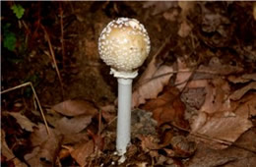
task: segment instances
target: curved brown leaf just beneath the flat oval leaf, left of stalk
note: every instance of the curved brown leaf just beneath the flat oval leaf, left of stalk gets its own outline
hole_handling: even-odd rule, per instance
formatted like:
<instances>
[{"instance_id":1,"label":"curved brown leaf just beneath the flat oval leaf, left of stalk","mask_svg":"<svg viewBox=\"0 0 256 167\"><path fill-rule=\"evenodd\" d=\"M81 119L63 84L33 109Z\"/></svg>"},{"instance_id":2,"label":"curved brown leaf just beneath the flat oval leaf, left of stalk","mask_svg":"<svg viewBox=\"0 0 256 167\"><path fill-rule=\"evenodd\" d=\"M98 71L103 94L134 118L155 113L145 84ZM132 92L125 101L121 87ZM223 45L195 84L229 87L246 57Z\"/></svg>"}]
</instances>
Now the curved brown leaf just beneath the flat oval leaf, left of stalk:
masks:
<instances>
[{"instance_id":1,"label":"curved brown leaf just beneath the flat oval leaf, left of stalk","mask_svg":"<svg viewBox=\"0 0 256 167\"><path fill-rule=\"evenodd\" d=\"M90 115L80 115L71 119L63 117L56 122L55 128L59 130L60 133L65 135L77 134L91 124L92 117L93 116Z\"/></svg>"}]
</instances>

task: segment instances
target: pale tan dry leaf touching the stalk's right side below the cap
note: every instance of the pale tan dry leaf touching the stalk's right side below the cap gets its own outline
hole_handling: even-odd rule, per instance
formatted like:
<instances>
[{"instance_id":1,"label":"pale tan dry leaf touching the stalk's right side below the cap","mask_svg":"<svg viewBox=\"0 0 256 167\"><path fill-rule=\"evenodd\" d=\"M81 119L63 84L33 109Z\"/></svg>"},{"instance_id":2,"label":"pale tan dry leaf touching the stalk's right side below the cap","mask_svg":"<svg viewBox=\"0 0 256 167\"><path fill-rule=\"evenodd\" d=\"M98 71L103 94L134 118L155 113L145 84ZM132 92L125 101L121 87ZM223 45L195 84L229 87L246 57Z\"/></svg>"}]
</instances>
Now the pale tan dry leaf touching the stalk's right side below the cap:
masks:
<instances>
[{"instance_id":1,"label":"pale tan dry leaf touching the stalk's right side below the cap","mask_svg":"<svg viewBox=\"0 0 256 167\"><path fill-rule=\"evenodd\" d=\"M139 86L135 89L132 95L132 106L137 107L140 104L144 104L147 99L156 98L163 86L169 82L173 72L172 67L160 66L158 69L155 63L151 63L142 78L139 80ZM166 75L167 74L167 75ZM164 76L161 76L164 75ZM154 79L155 78L155 79Z\"/></svg>"}]
</instances>

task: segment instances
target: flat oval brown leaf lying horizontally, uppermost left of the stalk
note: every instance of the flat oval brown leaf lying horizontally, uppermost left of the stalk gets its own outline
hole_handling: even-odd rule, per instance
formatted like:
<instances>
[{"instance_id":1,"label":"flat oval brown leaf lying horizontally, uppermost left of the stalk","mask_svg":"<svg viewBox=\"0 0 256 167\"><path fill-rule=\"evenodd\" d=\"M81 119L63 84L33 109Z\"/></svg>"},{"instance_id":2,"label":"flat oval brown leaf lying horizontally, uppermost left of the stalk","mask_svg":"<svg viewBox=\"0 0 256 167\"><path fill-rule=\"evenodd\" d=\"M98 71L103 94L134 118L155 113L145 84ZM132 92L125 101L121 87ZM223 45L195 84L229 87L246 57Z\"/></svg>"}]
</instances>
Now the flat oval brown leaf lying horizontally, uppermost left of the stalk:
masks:
<instances>
[{"instance_id":1,"label":"flat oval brown leaf lying horizontally, uppermost left of the stalk","mask_svg":"<svg viewBox=\"0 0 256 167\"><path fill-rule=\"evenodd\" d=\"M86 100L66 100L52 107L65 116L96 115L95 106Z\"/></svg>"}]
</instances>

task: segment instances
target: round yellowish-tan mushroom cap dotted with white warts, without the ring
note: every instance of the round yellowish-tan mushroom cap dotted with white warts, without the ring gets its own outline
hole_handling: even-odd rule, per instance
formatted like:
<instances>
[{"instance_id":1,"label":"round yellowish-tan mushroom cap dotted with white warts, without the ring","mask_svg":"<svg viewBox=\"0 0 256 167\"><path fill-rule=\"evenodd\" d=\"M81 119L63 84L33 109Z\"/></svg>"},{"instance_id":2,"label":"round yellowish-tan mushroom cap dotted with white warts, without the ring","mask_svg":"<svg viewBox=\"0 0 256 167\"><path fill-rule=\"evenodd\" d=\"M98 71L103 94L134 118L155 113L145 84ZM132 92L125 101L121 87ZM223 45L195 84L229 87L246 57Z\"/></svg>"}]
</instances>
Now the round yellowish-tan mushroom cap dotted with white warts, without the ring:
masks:
<instances>
[{"instance_id":1,"label":"round yellowish-tan mushroom cap dotted with white warts, without the ring","mask_svg":"<svg viewBox=\"0 0 256 167\"><path fill-rule=\"evenodd\" d=\"M150 37L139 21L118 18L103 28L98 38L100 58L113 71L134 73L144 63L151 49Z\"/></svg>"}]
</instances>

